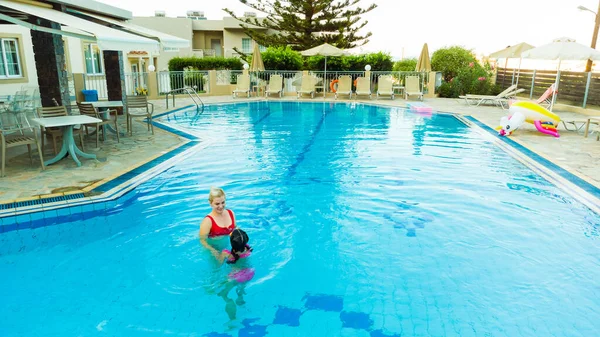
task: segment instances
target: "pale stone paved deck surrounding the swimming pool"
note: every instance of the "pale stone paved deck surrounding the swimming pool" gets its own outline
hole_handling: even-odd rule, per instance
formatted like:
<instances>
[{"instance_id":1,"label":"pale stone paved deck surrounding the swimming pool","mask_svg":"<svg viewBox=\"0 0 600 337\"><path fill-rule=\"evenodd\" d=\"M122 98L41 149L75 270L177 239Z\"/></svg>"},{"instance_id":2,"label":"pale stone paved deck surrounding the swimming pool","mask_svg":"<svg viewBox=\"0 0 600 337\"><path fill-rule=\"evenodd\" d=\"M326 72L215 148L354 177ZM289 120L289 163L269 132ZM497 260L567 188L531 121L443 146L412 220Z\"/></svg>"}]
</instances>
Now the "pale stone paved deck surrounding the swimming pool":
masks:
<instances>
[{"instance_id":1,"label":"pale stone paved deck surrounding the swimming pool","mask_svg":"<svg viewBox=\"0 0 600 337\"><path fill-rule=\"evenodd\" d=\"M208 96L202 99L207 104L264 100L264 98L233 99L231 96ZM298 101L295 96L284 97L283 100ZM301 99L301 101L322 102L323 98ZM327 101L334 102L333 98L328 98ZM346 101L338 100L337 102ZM404 99L352 101L398 107L404 107L407 102ZM174 109L171 102L169 102L170 106L167 109L164 99L153 101L153 103L155 116ZM175 108L191 104L193 102L190 99L177 98ZM472 116L491 128L496 127L500 118L507 113L507 110L502 110L499 107L469 106L464 101L457 99L429 98L425 99L425 104L430 105L437 111ZM587 118L587 115L561 112L559 109L555 112L565 120ZM600 115L600 112L598 115ZM120 117L119 119L120 129L125 130L125 118ZM133 136L122 136L120 143L117 143L115 135L108 133L106 141L101 142L99 148L95 148L94 137L87 138L85 141L86 152L95 153L98 159L83 159L81 167L77 167L71 159L65 158L42 171L39 160L36 160L36 153L34 153L34 163L32 165L26 147L16 148L12 152L9 151L6 177L0 178L0 205L79 193L88 196L95 187L102 183L109 182L111 179L148 163L190 141L186 137L158 127L155 127L154 130L155 135L152 135L146 130L145 123L137 121L134 122ZM559 132L561 137L554 138L541 134L533 125L526 123L510 138L593 186L600 188L600 170L598 170L600 167L600 160L598 160L600 158L600 142L596 141L596 134L584 138L583 131L567 131L564 130L562 124L559 127ZM79 142L76 141L76 144L79 144ZM52 156L51 144L46 142L44 159L48 160Z\"/></svg>"}]
</instances>

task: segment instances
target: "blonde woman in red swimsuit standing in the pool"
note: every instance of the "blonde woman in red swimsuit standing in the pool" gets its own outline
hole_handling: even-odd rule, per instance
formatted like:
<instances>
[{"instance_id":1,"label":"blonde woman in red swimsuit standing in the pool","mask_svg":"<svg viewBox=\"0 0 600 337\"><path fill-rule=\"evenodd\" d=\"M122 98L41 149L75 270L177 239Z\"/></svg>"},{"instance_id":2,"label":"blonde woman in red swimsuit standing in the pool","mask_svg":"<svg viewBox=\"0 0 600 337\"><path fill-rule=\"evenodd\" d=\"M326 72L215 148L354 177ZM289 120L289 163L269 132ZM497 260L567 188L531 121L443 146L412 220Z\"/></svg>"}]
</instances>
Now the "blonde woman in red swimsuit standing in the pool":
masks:
<instances>
[{"instance_id":1,"label":"blonde woman in red swimsuit standing in the pool","mask_svg":"<svg viewBox=\"0 0 600 337\"><path fill-rule=\"evenodd\" d=\"M221 188L210 188L208 202L212 211L200 223L200 243L215 258L220 259L221 253L208 243L207 238L224 237L231 234L235 229L235 215L231 210L225 209L225 191Z\"/></svg>"}]
</instances>

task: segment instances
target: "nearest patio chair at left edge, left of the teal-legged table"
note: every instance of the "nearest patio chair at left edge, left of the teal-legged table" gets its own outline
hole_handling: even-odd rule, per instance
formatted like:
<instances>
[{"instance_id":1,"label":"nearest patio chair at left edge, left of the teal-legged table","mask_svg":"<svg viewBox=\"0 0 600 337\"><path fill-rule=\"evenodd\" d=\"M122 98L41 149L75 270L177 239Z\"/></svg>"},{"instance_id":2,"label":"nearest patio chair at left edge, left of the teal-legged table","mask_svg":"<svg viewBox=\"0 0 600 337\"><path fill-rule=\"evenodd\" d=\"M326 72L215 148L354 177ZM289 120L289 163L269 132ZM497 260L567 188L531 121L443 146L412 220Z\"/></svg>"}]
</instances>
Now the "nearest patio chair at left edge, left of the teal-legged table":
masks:
<instances>
[{"instance_id":1,"label":"nearest patio chair at left edge, left of the teal-legged table","mask_svg":"<svg viewBox=\"0 0 600 337\"><path fill-rule=\"evenodd\" d=\"M29 124L29 121L19 121L19 117L26 118L24 114L15 114L11 112L0 113L0 148L2 156L2 166L0 169L0 177L4 177L4 168L6 167L6 149L27 145L29 152L29 160L33 164L33 156L31 154L31 145L37 146L38 154L42 170L45 169L44 157L42 148L40 147L37 132ZM30 131L33 136L24 135L23 131Z\"/></svg>"}]
</instances>

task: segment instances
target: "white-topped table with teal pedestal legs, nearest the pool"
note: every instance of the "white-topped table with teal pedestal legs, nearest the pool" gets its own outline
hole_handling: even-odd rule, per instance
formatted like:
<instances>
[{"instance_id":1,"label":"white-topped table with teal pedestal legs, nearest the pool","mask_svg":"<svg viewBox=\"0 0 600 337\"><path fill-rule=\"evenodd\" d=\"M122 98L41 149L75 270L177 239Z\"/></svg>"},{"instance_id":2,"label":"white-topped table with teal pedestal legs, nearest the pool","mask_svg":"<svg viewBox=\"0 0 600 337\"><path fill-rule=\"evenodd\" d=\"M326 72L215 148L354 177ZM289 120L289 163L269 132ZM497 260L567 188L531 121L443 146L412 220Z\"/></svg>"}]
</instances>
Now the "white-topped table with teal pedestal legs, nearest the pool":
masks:
<instances>
[{"instance_id":1,"label":"white-topped table with teal pedestal legs, nearest the pool","mask_svg":"<svg viewBox=\"0 0 600 337\"><path fill-rule=\"evenodd\" d=\"M77 158L77 155L87 159L96 159L95 154L85 153L77 148L77 145L75 145L75 139L73 138L73 126L79 124L100 123L102 120L90 116L72 115L48 118L32 118L31 121L45 128L60 127L63 132L63 144L60 152L56 155L56 157L44 162L44 165L48 166L56 163L57 161L63 159L67 153L71 155L71 158L73 158L73 161L75 161L77 166L81 166L81 162Z\"/></svg>"}]
</instances>

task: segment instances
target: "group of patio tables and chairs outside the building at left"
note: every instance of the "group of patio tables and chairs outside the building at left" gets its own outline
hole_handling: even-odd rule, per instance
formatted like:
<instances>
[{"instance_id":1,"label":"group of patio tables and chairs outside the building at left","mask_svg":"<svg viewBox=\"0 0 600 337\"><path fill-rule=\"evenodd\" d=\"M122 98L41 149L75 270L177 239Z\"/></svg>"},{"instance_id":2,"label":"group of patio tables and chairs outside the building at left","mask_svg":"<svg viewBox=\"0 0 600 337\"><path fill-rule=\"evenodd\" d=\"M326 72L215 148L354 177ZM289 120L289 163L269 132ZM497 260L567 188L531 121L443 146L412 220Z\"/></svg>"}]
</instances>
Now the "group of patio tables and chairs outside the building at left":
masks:
<instances>
[{"instance_id":1,"label":"group of patio tables and chairs outside the building at left","mask_svg":"<svg viewBox=\"0 0 600 337\"><path fill-rule=\"evenodd\" d=\"M53 99L53 106L42 107L39 92L34 89L31 94L20 90L1 101L0 177L5 176L7 149L17 146L27 146L32 164L32 146L35 146L42 170L67 155L77 166L81 166L80 157L95 159L95 154L85 152L84 136L95 136L96 148L100 132L103 141L108 131L120 142L120 136L124 134L119 131L119 110L123 110L122 114L126 118L128 135L133 136L133 119L139 117L147 118L148 131L154 134L154 127L150 122L154 106L148 102L147 96L126 96L124 101L83 101L70 107L61 106ZM80 147L75 143L75 136L79 139ZM54 157L44 161L46 139L51 139ZM58 141L62 143L60 148L57 146Z\"/></svg>"}]
</instances>

